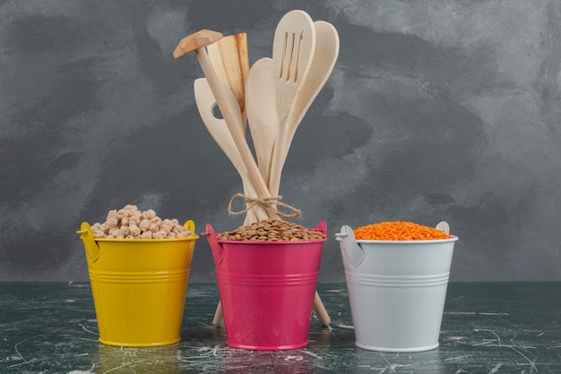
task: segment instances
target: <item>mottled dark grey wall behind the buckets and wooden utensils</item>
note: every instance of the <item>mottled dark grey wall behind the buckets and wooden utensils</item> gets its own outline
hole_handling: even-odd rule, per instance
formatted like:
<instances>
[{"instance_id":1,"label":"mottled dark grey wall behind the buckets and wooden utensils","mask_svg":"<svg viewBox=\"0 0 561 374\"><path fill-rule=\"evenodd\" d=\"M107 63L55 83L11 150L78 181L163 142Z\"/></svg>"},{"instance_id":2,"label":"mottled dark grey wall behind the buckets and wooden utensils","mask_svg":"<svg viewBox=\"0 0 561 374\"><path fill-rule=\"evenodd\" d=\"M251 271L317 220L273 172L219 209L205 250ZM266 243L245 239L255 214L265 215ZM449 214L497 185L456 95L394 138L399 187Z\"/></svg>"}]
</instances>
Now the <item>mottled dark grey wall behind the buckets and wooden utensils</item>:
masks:
<instances>
[{"instance_id":1,"label":"mottled dark grey wall behind the buckets and wooden utensils","mask_svg":"<svg viewBox=\"0 0 561 374\"><path fill-rule=\"evenodd\" d=\"M172 52L245 31L253 63L291 9L341 38L280 188L327 223L320 281L344 279L341 225L386 220L449 222L454 281L561 280L561 3L538 0L1 1L0 280L87 280L75 231L129 203L240 225ZM204 238L191 280L214 280Z\"/></svg>"}]
</instances>

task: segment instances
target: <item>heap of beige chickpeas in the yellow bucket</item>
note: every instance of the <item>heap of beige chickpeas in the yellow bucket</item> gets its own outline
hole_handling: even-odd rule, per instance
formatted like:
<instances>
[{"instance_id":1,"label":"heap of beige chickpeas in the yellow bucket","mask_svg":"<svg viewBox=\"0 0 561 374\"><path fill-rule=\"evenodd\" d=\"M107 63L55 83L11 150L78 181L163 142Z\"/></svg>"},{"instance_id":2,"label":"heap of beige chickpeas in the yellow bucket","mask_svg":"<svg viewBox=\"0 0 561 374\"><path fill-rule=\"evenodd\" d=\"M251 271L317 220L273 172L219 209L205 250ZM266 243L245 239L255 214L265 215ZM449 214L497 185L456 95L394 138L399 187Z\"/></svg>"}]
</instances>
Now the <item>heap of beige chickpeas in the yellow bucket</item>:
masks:
<instances>
[{"instance_id":1,"label":"heap of beige chickpeas in the yellow bucket","mask_svg":"<svg viewBox=\"0 0 561 374\"><path fill-rule=\"evenodd\" d=\"M154 210L141 211L135 205L109 210L104 223L91 225L91 233L95 238L106 239L176 239L195 235L177 219L161 219Z\"/></svg>"}]
</instances>

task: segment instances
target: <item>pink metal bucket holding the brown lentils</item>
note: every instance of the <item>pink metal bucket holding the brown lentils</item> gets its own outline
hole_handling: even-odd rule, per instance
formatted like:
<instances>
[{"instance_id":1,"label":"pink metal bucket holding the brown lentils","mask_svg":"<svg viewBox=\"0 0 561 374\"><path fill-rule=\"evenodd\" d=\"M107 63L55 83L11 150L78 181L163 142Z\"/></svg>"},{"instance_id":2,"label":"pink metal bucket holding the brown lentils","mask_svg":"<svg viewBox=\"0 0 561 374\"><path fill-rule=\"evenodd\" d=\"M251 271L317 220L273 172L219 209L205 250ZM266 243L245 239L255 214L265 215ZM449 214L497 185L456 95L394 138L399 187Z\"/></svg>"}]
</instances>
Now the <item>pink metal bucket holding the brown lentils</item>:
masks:
<instances>
[{"instance_id":1,"label":"pink metal bucket holding the brown lentils","mask_svg":"<svg viewBox=\"0 0 561 374\"><path fill-rule=\"evenodd\" d=\"M322 221L317 229L326 232ZM280 351L308 344L308 332L324 240L237 242L211 246L226 344L256 351Z\"/></svg>"}]
</instances>

